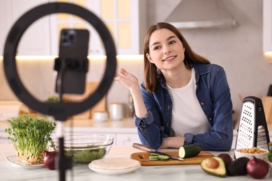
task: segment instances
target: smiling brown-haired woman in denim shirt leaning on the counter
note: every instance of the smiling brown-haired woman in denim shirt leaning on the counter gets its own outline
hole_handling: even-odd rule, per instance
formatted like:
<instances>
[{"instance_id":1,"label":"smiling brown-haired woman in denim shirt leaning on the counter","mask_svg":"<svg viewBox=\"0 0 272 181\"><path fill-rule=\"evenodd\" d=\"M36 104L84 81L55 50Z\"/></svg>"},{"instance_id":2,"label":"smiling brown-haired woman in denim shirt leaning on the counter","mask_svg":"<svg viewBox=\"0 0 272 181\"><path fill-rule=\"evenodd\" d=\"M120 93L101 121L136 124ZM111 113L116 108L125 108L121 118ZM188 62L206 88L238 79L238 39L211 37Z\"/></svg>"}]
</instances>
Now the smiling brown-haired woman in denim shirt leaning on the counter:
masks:
<instances>
[{"instance_id":1,"label":"smiling brown-haired woman in denim shirt leaning on the counter","mask_svg":"<svg viewBox=\"0 0 272 181\"><path fill-rule=\"evenodd\" d=\"M231 148L232 100L225 71L195 54L171 24L160 22L146 31L141 86L123 68L114 80L133 96L135 125L145 145Z\"/></svg>"}]
</instances>

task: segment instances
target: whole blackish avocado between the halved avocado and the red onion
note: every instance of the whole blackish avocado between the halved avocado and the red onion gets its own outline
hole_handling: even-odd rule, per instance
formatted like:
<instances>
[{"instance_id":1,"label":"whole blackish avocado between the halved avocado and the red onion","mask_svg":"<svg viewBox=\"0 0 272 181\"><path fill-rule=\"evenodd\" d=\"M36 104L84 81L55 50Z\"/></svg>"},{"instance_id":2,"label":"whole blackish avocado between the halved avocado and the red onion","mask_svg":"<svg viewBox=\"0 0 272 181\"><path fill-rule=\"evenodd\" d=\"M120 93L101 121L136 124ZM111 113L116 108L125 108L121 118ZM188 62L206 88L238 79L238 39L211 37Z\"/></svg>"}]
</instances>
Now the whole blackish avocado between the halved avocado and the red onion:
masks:
<instances>
[{"instance_id":1,"label":"whole blackish avocado between the halved avocado and the red onion","mask_svg":"<svg viewBox=\"0 0 272 181\"><path fill-rule=\"evenodd\" d=\"M246 164L250 159L247 157L239 157L235 159L234 162L227 166L227 175L234 176L234 175L246 175L248 172L246 171Z\"/></svg>"}]
</instances>

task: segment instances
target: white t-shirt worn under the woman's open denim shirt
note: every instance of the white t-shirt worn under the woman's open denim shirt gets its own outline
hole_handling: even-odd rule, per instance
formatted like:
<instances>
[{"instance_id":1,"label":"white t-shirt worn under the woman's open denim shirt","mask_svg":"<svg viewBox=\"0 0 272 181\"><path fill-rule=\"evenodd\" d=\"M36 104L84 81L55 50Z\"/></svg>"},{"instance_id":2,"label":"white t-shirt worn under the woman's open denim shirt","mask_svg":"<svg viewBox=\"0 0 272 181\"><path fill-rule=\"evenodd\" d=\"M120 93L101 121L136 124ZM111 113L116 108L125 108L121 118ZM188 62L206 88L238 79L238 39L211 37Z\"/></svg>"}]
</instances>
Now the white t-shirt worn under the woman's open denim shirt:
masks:
<instances>
[{"instance_id":1,"label":"white t-shirt worn under the woman's open denim shirt","mask_svg":"<svg viewBox=\"0 0 272 181\"><path fill-rule=\"evenodd\" d=\"M192 68L192 76L186 86L171 88L167 84L167 88L173 102L171 136L209 132L211 125L195 94L195 68Z\"/></svg>"}]
</instances>

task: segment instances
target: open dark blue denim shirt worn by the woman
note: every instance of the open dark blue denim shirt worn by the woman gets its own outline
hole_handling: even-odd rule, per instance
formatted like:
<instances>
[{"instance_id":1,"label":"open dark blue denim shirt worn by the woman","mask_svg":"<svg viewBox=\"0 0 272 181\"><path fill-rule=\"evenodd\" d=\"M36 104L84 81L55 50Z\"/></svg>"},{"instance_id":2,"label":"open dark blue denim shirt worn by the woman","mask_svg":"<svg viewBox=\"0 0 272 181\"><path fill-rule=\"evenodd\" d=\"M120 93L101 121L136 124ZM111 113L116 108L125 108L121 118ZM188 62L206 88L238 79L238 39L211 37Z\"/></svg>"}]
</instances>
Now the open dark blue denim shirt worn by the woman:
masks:
<instances>
[{"instance_id":1,"label":"open dark blue denim shirt worn by the woman","mask_svg":"<svg viewBox=\"0 0 272 181\"><path fill-rule=\"evenodd\" d=\"M202 150L227 151L232 147L232 100L225 70L215 64L194 63L196 95L211 124L211 131L204 134L186 133L184 145L197 144ZM158 149L163 138L170 136L172 99L167 91L163 74L157 90L149 93L141 84L141 92L148 113L135 118L139 139L144 145ZM190 120L188 120L190 121Z\"/></svg>"}]
</instances>

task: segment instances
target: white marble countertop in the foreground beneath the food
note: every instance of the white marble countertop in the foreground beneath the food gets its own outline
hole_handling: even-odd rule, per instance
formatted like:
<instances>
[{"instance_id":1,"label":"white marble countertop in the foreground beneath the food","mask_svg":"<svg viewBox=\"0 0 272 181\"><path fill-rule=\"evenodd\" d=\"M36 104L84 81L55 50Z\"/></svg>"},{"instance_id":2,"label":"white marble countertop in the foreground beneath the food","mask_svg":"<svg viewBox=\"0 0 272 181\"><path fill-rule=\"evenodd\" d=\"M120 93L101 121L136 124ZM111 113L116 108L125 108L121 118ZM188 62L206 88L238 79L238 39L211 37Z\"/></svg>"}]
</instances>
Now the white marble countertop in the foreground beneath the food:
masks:
<instances>
[{"instance_id":1,"label":"white marble countertop in the foreground beneath the food","mask_svg":"<svg viewBox=\"0 0 272 181\"><path fill-rule=\"evenodd\" d=\"M139 150L130 146L112 146L107 157L130 157L133 152ZM218 155L220 152L213 152ZM232 151L229 152L232 154ZM6 161L5 156L15 155L12 144L0 144L0 180L59 180L58 171L50 171L47 168L26 169L10 164ZM136 171L122 175L102 175L95 173L88 168L88 165L77 165L73 167L73 177L70 171L66 172L66 180L111 180L111 181L136 181L136 180L255 180L250 175L218 178L202 171L199 164L197 165L179 165L179 166L141 166ZM262 180L271 180L272 171Z\"/></svg>"}]
</instances>

